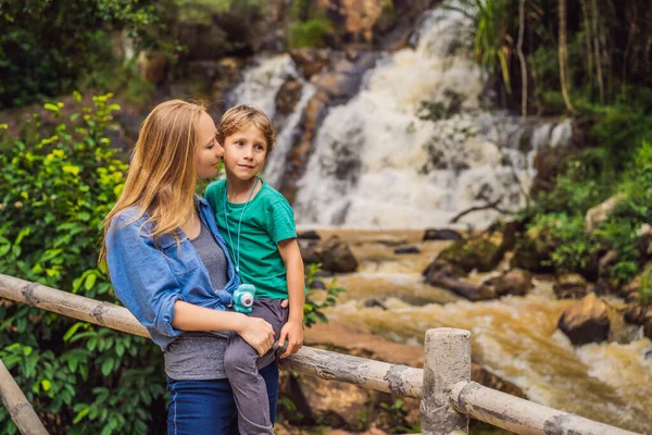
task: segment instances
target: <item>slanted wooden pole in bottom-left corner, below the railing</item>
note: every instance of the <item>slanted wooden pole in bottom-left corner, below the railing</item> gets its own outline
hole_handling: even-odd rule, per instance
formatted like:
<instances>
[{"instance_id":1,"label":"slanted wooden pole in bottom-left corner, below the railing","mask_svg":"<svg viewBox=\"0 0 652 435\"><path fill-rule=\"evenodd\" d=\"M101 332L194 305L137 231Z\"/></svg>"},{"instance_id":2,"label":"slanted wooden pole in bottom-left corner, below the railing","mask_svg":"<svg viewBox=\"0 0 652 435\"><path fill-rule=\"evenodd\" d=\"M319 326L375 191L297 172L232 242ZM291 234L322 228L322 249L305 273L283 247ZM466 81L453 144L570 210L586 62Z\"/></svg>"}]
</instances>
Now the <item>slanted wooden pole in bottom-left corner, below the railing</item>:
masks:
<instances>
[{"instance_id":1,"label":"slanted wooden pole in bottom-left corner, below the railing","mask_svg":"<svg viewBox=\"0 0 652 435\"><path fill-rule=\"evenodd\" d=\"M0 399L9 411L11 420L24 435L48 435L48 431L32 408L29 401L0 360Z\"/></svg>"}]
</instances>

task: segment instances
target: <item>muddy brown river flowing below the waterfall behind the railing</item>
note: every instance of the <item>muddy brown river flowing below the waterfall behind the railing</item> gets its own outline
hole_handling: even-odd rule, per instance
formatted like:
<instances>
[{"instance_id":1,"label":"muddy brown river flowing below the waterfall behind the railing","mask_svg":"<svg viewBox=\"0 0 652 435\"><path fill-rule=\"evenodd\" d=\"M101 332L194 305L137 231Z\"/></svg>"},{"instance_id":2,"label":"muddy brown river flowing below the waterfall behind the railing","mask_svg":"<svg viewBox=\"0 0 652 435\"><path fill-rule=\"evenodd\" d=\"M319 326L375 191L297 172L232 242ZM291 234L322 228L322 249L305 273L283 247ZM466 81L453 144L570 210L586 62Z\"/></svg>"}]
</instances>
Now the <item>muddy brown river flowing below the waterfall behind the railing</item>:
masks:
<instances>
[{"instance_id":1,"label":"muddy brown river flowing below the waterfall behind the railing","mask_svg":"<svg viewBox=\"0 0 652 435\"><path fill-rule=\"evenodd\" d=\"M412 229L319 234L339 235L360 261L356 273L337 276L348 291L327 310L331 322L406 344L422 344L431 327L468 330L474 361L516 384L530 400L652 434L652 359L645 359L652 341L638 328L620 324L616 340L575 348L556 328L573 301L555 299L550 277L536 278L525 297L471 302L422 281L422 271L449 241L422 241L423 232ZM421 253L393 252L403 246ZM499 270L506 266L504 261ZM489 275L472 278L481 282ZM366 308L372 298L386 310Z\"/></svg>"}]
</instances>

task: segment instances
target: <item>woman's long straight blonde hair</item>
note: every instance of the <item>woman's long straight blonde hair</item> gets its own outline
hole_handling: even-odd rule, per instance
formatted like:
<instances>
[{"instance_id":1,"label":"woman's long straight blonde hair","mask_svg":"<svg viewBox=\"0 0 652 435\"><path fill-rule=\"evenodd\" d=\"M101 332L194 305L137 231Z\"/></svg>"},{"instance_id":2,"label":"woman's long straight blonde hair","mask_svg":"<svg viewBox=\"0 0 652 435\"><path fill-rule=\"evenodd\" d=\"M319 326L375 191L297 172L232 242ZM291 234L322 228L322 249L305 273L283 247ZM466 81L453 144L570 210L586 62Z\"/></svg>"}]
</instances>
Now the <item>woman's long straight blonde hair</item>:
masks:
<instances>
[{"instance_id":1,"label":"woman's long straight blonde hair","mask_svg":"<svg viewBox=\"0 0 652 435\"><path fill-rule=\"evenodd\" d=\"M195 201L195 151L202 113L205 108L201 103L171 100L156 105L147 116L140 127L123 191L104 219L100 264L106 259L105 243L111 220L133 206L138 212L129 222L149 214L143 225L153 224L148 236L154 243L165 234L173 234L179 243L175 229L186 221Z\"/></svg>"}]
</instances>

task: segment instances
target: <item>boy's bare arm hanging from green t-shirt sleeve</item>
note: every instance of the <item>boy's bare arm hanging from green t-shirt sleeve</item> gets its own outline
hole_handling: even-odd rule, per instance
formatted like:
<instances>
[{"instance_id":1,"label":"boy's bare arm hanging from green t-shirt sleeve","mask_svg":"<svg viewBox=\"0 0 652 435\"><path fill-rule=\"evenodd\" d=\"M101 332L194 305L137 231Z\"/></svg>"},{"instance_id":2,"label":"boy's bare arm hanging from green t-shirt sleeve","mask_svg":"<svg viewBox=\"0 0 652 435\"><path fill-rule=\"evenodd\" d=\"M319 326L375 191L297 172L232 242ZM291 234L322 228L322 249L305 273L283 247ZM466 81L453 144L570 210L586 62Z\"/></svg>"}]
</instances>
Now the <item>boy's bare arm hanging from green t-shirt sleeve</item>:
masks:
<instances>
[{"instance_id":1,"label":"boy's bare arm hanging from green t-shirt sleeve","mask_svg":"<svg viewBox=\"0 0 652 435\"><path fill-rule=\"evenodd\" d=\"M303 260L296 238L280 240L278 252L286 266L288 281L288 297L290 299L290 314L288 322L280 330L278 346L283 347L286 338L288 347L280 358L297 353L303 345L303 306L305 304Z\"/></svg>"}]
</instances>

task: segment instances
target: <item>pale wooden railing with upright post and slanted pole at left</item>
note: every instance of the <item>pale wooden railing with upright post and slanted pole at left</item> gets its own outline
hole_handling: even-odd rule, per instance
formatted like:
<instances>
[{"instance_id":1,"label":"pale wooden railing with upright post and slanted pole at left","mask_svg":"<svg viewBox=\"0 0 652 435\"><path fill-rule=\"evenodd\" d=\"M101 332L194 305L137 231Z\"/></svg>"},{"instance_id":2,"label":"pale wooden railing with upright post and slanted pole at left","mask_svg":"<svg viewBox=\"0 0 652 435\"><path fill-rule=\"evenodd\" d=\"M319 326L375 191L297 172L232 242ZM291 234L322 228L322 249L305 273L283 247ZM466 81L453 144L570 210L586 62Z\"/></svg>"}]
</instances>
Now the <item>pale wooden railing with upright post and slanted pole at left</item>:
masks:
<instances>
[{"instance_id":1,"label":"pale wooden railing with upright post and slanted pole at left","mask_svg":"<svg viewBox=\"0 0 652 435\"><path fill-rule=\"evenodd\" d=\"M125 308L13 276L0 274L0 297L149 337L147 330ZM468 331L428 330L424 352L424 369L414 369L303 347L297 355L283 360L280 365L285 370L306 373L324 380L342 381L397 396L418 398L422 434L467 433L469 418L517 434L634 434L471 382L471 333ZM47 434L42 424L40 427L35 424L34 410L1 364L0 396L22 433ZM25 405L29 409L26 409Z\"/></svg>"}]
</instances>

